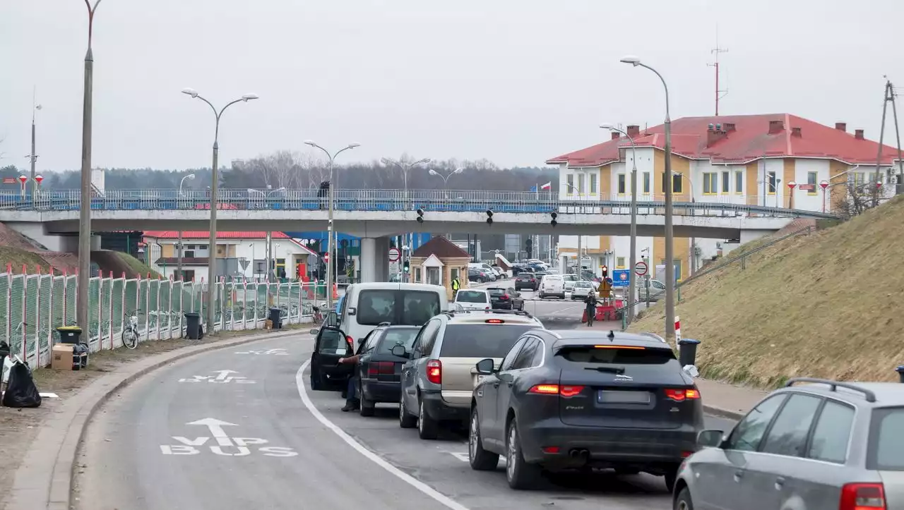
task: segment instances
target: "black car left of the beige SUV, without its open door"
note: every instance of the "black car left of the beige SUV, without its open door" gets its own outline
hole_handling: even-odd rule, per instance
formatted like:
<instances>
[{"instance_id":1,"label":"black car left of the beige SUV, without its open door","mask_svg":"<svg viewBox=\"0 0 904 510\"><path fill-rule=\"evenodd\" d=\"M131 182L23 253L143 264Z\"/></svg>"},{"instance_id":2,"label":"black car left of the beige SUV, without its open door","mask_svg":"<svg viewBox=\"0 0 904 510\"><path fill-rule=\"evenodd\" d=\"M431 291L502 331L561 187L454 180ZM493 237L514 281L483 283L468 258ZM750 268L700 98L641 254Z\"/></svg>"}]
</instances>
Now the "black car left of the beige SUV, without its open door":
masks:
<instances>
[{"instance_id":1,"label":"black car left of the beige SUV, without its open door","mask_svg":"<svg viewBox=\"0 0 904 510\"><path fill-rule=\"evenodd\" d=\"M419 330L417 326L381 326L368 335L355 368L362 416L372 416L376 403L399 402L401 366L408 358L392 354L392 348L403 346L410 351Z\"/></svg>"}]
</instances>

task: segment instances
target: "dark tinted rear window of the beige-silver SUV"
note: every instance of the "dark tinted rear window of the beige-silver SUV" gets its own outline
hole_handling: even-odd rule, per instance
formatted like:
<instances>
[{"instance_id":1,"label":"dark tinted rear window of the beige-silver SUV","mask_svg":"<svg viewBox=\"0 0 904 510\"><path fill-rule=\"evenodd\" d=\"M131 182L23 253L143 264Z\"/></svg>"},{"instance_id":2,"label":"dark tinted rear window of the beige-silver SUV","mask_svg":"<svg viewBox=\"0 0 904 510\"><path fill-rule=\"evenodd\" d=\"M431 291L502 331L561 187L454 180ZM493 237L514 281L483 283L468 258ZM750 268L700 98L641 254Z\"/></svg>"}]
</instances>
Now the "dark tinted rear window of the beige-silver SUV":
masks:
<instances>
[{"instance_id":1,"label":"dark tinted rear window of the beige-silver SUV","mask_svg":"<svg viewBox=\"0 0 904 510\"><path fill-rule=\"evenodd\" d=\"M440 357L504 357L535 325L452 324L443 334Z\"/></svg>"}]
</instances>

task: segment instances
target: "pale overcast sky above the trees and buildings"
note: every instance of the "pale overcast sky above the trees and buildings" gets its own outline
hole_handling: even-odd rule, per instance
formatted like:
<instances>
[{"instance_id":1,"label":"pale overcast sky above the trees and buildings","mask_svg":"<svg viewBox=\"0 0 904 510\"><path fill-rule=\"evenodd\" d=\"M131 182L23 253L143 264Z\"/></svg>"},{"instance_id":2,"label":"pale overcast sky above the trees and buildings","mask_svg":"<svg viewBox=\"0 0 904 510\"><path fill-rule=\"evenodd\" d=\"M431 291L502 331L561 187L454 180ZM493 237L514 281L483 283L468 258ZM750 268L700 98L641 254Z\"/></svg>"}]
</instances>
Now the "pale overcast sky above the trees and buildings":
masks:
<instances>
[{"instance_id":1,"label":"pale overcast sky above the trees and buildings","mask_svg":"<svg viewBox=\"0 0 904 510\"><path fill-rule=\"evenodd\" d=\"M94 0L92 0L93 2ZM601 123L791 113L878 139L883 75L904 86L904 2L870 0L103 0L94 21L95 167L209 167L360 147L539 166L605 141ZM80 167L84 0L0 0L0 166ZM904 107L904 105L901 105ZM889 120L888 128L893 130ZM893 133L893 132L892 132ZM886 138L888 141L889 138ZM892 139L893 140L893 139Z\"/></svg>"}]
</instances>

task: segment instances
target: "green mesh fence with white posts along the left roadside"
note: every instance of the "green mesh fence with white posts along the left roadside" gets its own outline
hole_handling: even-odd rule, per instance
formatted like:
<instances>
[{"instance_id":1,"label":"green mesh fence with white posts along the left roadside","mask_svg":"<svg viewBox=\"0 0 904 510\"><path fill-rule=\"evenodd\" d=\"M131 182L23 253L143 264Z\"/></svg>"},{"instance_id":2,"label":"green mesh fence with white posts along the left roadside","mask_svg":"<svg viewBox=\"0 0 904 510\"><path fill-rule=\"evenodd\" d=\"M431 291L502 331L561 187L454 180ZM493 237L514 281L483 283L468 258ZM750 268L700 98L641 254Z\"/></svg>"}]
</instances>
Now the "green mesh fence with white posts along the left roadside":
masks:
<instances>
[{"instance_id":1,"label":"green mesh fence with white posts along the left roadside","mask_svg":"<svg viewBox=\"0 0 904 510\"><path fill-rule=\"evenodd\" d=\"M78 276L0 274L0 340L31 366L50 366L56 328L76 321ZM83 341L92 352L122 347L122 332L137 314L139 341L182 338L185 312L204 315L210 285L154 278L93 277L89 283L89 329ZM312 283L221 281L213 285L213 329L262 329L270 308L283 323L309 321L312 305L325 299L325 286ZM210 331L210 325L207 327Z\"/></svg>"}]
</instances>

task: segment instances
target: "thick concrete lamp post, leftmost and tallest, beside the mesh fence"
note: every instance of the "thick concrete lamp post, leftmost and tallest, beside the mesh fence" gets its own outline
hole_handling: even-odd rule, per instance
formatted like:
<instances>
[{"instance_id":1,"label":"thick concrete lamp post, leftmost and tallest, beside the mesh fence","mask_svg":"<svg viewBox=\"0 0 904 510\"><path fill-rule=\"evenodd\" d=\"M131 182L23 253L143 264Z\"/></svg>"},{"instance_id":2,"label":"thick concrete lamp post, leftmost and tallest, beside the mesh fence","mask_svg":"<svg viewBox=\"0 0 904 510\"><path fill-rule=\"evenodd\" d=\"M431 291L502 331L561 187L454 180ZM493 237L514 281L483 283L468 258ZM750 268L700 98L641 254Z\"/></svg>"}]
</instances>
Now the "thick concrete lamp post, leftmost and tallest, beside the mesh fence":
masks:
<instances>
[{"instance_id":1,"label":"thick concrete lamp post, leftmost and tallest, beside the mesh fence","mask_svg":"<svg viewBox=\"0 0 904 510\"><path fill-rule=\"evenodd\" d=\"M91 281L91 116L94 96L94 54L91 36L94 33L94 14L100 0L88 7L88 51L85 53L85 88L81 107L81 194L79 200L79 279L76 288L75 319L85 333L89 333L88 288Z\"/></svg>"}]
</instances>

